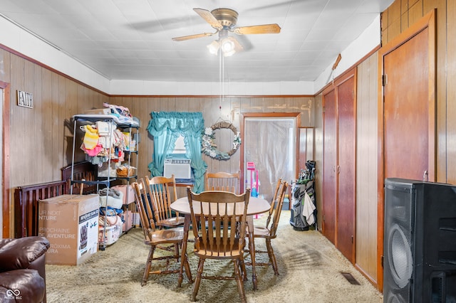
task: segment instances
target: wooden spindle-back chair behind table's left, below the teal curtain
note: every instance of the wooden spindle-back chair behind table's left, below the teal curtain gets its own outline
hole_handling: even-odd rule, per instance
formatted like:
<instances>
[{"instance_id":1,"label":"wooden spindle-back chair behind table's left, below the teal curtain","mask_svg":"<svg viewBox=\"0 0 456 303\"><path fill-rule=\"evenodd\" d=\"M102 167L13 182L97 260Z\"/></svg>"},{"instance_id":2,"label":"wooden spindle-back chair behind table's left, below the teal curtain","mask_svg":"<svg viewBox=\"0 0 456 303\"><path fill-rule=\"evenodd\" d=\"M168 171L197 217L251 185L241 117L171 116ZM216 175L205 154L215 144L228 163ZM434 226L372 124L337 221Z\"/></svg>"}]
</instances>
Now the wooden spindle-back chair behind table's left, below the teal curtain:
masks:
<instances>
[{"instance_id":1,"label":"wooden spindle-back chair behind table's left, below the teal curtain","mask_svg":"<svg viewBox=\"0 0 456 303\"><path fill-rule=\"evenodd\" d=\"M147 191L152 202L155 225L159 228L174 228L184 225L184 217L171 210L170 205L177 200L176 179L164 176L145 177Z\"/></svg>"}]
</instances>

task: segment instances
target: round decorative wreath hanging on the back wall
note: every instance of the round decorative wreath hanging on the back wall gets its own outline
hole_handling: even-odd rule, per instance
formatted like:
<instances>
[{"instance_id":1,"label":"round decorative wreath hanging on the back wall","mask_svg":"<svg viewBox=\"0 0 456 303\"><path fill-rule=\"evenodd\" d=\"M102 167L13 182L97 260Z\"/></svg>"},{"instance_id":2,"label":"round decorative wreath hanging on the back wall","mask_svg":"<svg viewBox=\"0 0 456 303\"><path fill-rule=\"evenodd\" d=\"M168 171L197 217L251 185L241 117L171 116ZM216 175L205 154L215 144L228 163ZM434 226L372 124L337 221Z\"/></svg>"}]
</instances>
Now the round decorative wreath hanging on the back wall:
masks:
<instances>
[{"instance_id":1,"label":"round decorative wreath hanging on the back wall","mask_svg":"<svg viewBox=\"0 0 456 303\"><path fill-rule=\"evenodd\" d=\"M234 132L234 140L233 140L233 148L228 152L219 151L217 149L217 144L214 143L215 129L231 129ZM204 133L202 134L202 152L207 156L210 156L213 159L217 160L227 160L230 156L232 156L239 146L241 145L241 134L237 131L237 128L234 127L233 124L229 122L217 122L216 124L212 125L212 127L206 127L204 129Z\"/></svg>"}]
</instances>

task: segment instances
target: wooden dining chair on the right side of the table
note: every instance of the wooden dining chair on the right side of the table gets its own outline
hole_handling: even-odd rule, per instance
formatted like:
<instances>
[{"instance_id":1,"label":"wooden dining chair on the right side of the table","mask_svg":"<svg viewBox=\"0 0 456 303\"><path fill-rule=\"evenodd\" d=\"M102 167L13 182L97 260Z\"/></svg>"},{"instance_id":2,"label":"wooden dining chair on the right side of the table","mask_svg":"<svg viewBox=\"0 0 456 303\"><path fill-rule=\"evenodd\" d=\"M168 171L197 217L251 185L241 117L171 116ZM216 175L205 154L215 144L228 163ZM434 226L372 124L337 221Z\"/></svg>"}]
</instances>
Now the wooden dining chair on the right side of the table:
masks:
<instances>
[{"instance_id":1,"label":"wooden dining chair on the right side of the table","mask_svg":"<svg viewBox=\"0 0 456 303\"><path fill-rule=\"evenodd\" d=\"M266 253L269 256L269 262L257 262L255 265L266 266L272 265L274 269L274 275L279 275L279 269L277 267L276 255L271 245L271 240L277 237L277 227L279 225L279 219L281 214L282 206L284 205L284 198L288 189L288 182L279 179L277 181L276 189L274 191L274 198L271 201L271 208L269 209L268 218L266 218L266 225L257 226L254 225L254 240L257 238L263 238L266 240L266 251L255 250L255 253ZM246 262L246 264L251 264Z\"/></svg>"}]
</instances>

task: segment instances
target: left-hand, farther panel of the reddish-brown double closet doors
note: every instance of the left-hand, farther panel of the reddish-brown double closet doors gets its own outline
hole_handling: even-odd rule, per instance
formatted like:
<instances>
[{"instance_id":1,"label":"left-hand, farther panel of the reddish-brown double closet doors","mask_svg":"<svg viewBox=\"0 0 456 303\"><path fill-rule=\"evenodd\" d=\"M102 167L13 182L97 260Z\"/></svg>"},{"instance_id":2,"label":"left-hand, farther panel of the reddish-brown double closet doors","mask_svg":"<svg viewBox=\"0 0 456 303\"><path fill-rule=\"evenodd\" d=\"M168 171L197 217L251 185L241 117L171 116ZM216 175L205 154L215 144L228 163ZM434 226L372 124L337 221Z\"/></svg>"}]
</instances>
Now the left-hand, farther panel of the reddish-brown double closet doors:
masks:
<instances>
[{"instance_id":1,"label":"left-hand, farther panel of the reddish-brown double closet doors","mask_svg":"<svg viewBox=\"0 0 456 303\"><path fill-rule=\"evenodd\" d=\"M337 112L335 90L323 92L323 235L336 244Z\"/></svg>"}]
</instances>

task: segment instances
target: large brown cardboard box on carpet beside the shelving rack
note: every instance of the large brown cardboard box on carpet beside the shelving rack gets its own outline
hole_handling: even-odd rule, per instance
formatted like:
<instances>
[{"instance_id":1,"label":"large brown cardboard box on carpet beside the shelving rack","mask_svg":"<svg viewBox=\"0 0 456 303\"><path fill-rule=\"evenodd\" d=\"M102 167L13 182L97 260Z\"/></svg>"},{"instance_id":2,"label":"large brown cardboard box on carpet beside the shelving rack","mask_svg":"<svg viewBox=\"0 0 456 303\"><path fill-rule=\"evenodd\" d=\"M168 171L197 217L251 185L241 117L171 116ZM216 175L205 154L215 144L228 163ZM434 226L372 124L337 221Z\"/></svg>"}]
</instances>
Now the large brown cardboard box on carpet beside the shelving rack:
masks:
<instances>
[{"instance_id":1,"label":"large brown cardboard box on carpet beside the shelving rack","mask_svg":"<svg viewBox=\"0 0 456 303\"><path fill-rule=\"evenodd\" d=\"M51 243L46 264L79 265L98 251L99 200L93 194L38 201L38 235Z\"/></svg>"}]
</instances>

